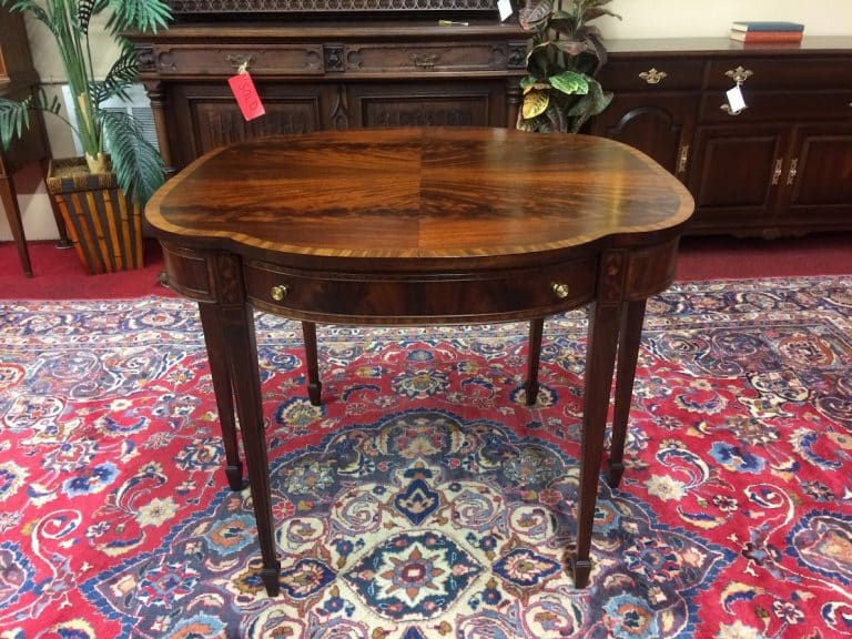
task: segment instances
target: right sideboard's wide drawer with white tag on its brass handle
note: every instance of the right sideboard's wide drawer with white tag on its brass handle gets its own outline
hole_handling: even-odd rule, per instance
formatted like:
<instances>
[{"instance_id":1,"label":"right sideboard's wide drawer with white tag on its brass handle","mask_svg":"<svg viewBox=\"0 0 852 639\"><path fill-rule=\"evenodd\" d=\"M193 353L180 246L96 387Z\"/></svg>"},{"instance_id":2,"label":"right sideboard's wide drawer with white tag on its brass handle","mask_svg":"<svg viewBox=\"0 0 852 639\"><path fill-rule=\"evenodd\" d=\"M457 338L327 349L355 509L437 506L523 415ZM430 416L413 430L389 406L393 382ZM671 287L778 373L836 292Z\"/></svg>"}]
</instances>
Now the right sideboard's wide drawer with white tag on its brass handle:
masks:
<instances>
[{"instance_id":1,"label":"right sideboard's wide drawer with white tag on its brass handle","mask_svg":"<svg viewBox=\"0 0 852 639\"><path fill-rule=\"evenodd\" d=\"M730 57L712 60L707 77L708 88L730 89L733 79L727 73L741 67L751 74L743 90L773 89L844 89L852 84L852 57L843 58L771 58Z\"/></svg>"}]
</instances>

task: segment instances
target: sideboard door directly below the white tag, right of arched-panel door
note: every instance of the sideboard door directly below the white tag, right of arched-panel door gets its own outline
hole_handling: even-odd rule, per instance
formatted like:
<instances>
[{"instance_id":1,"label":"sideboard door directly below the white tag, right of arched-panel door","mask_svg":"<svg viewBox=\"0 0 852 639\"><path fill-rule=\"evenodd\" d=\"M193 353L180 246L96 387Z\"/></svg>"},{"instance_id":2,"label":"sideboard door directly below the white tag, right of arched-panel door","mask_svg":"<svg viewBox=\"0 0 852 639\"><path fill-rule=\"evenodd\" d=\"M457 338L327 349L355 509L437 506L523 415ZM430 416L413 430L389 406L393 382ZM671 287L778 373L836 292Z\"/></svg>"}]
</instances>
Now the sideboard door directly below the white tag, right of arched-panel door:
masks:
<instances>
[{"instance_id":1,"label":"sideboard door directly below the white tag, right of arched-panel door","mask_svg":"<svg viewBox=\"0 0 852 639\"><path fill-rule=\"evenodd\" d=\"M772 223L789 132L782 124L699 125L688 182L696 199L690 229L750 235Z\"/></svg>"}]
</instances>

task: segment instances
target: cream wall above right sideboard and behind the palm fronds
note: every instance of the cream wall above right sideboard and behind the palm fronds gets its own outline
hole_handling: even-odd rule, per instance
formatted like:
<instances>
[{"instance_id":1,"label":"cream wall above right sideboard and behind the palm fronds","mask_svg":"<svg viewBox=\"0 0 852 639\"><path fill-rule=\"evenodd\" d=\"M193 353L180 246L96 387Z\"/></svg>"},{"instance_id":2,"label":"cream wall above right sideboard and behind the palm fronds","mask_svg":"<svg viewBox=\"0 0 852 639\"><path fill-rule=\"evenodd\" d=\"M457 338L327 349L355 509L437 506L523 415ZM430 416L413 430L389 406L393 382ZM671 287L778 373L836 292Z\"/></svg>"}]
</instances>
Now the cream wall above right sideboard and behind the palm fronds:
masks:
<instances>
[{"instance_id":1,"label":"cream wall above right sideboard and behind the palm fronds","mask_svg":"<svg viewBox=\"0 0 852 639\"><path fill-rule=\"evenodd\" d=\"M792 20L804 23L808 34L852 36L852 0L613 0L609 7L622 20L600 20L607 38L726 37L733 20ZM40 24L29 24L29 28L41 78L44 81L61 79L62 70L50 37ZM53 122L48 122L48 130L54 156L73 154L67 130ZM16 179L16 185L27 237L57 237L38 171L23 171ZM9 239L6 215L0 215L0 241Z\"/></svg>"}]
</instances>

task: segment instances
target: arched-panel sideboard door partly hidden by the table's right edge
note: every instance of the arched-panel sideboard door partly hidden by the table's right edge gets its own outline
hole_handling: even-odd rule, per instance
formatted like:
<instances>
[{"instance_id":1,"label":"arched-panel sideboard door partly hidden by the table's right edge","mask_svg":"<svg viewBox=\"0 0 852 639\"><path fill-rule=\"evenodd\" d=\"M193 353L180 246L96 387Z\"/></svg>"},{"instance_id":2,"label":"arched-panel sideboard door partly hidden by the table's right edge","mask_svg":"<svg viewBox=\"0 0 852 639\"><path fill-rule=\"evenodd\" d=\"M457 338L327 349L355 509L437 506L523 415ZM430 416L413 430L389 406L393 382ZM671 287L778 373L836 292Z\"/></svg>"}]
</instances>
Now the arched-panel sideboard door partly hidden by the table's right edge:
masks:
<instances>
[{"instance_id":1,"label":"arched-panel sideboard door partly hidden by the table's right edge","mask_svg":"<svg viewBox=\"0 0 852 639\"><path fill-rule=\"evenodd\" d=\"M617 93L591 131L639 149L684 181L697 104L691 93Z\"/></svg>"}]
</instances>

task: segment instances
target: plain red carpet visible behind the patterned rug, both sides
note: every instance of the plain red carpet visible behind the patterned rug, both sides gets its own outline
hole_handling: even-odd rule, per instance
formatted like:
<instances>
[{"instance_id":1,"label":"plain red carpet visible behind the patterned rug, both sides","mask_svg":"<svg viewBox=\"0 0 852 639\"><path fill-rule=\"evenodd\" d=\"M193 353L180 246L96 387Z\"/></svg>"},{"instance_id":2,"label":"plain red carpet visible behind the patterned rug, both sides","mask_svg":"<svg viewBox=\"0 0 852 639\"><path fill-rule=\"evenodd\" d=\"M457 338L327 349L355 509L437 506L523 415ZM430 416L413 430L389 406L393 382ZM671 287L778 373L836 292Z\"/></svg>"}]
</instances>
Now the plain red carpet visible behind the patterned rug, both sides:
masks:
<instances>
[{"instance_id":1,"label":"plain red carpet visible behind the patterned rug, both sides","mask_svg":"<svg viewBox=\"0 0 852 639\"><path fill-rule=\"evenodd\" d=\"M50 242L31 242L34 276L21 273L14 244L0 244L0 297L4 300L108 300L173 295L158 283L160 246L149 241L145 267L89 275L71 250ZM686 237L681 243L678 280L738 280L852 274L852 233L784 240Z\"/></svg>"}]
</instances>

